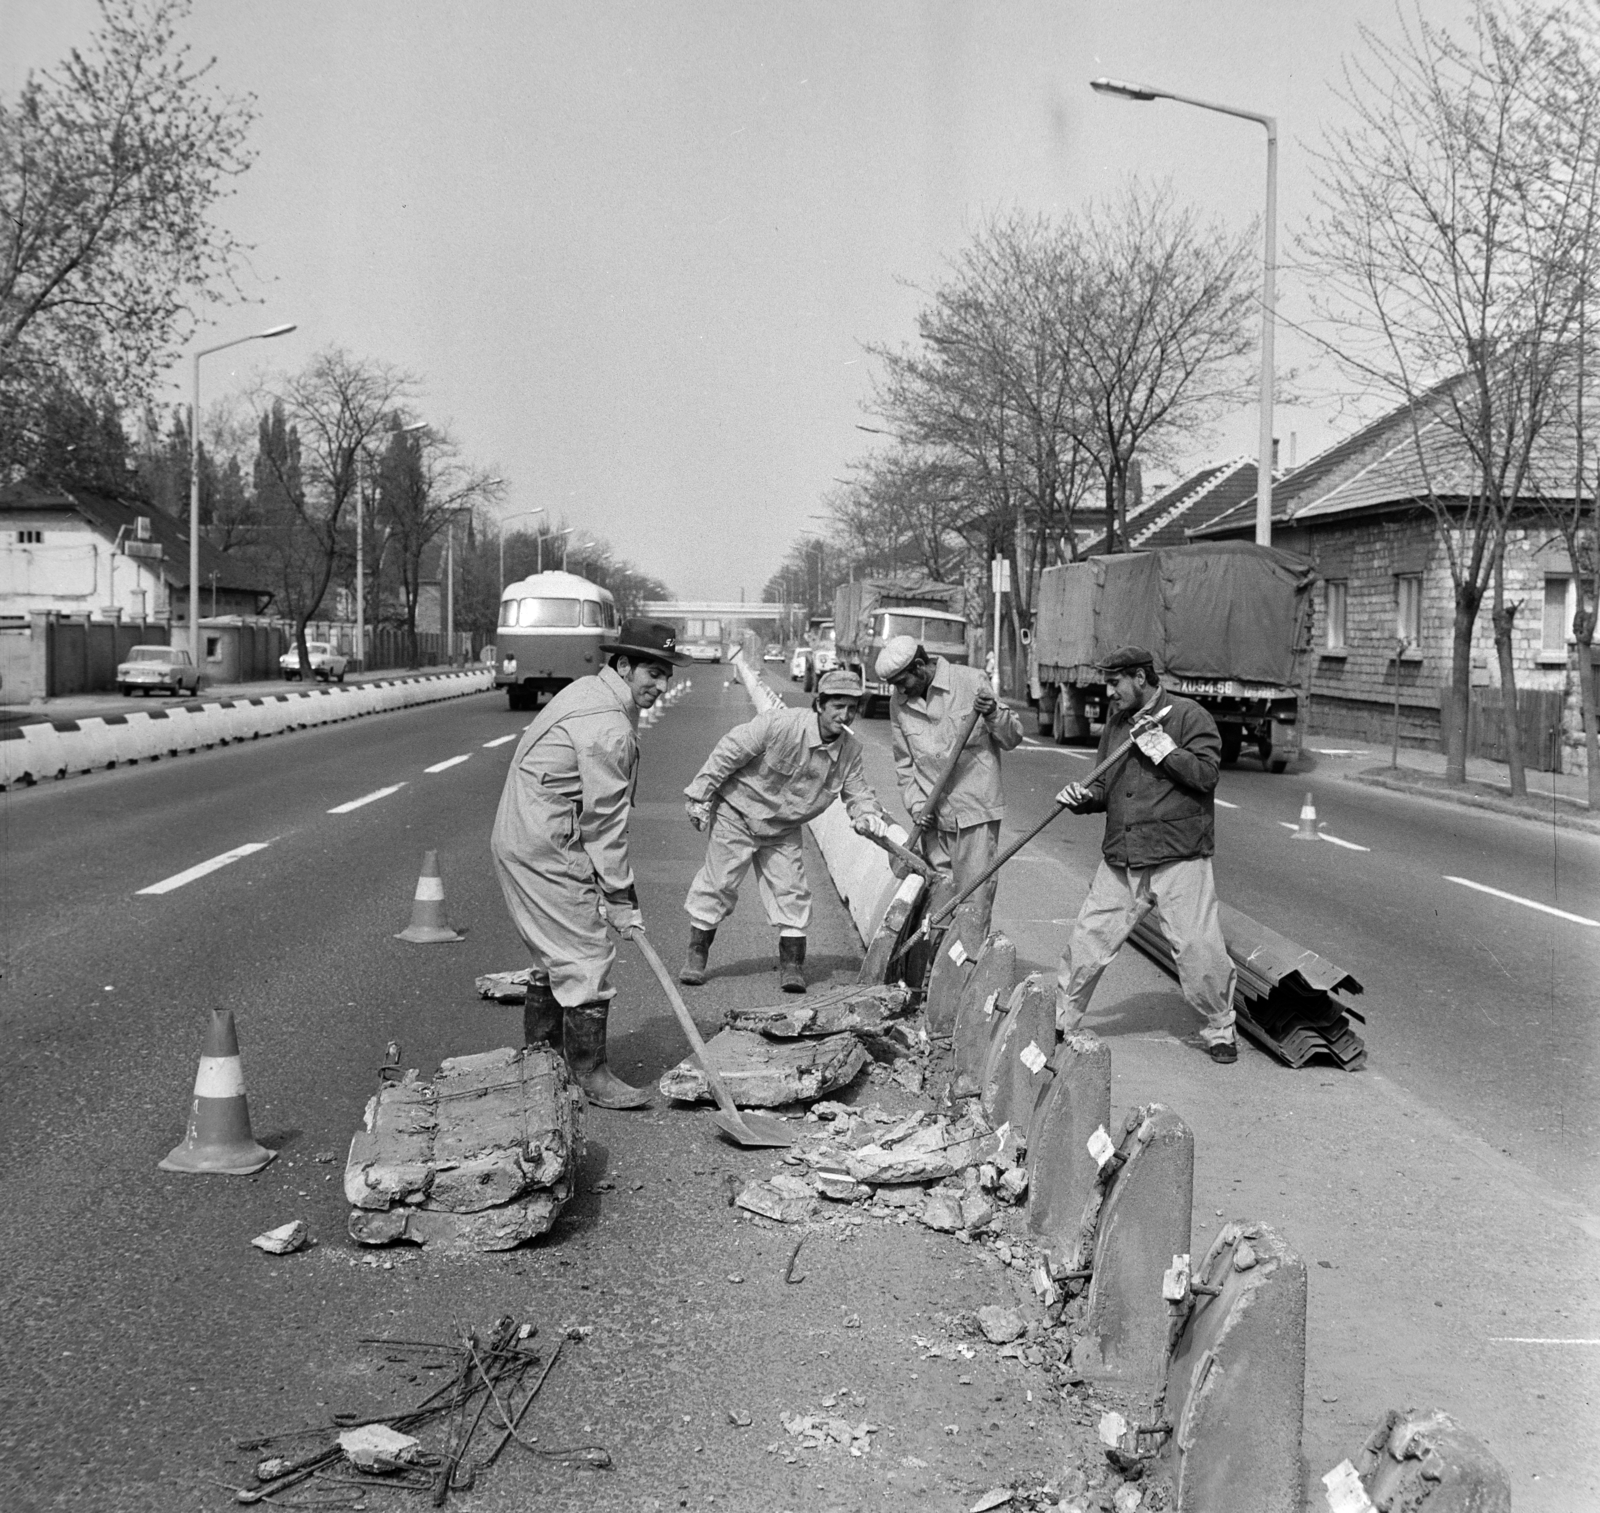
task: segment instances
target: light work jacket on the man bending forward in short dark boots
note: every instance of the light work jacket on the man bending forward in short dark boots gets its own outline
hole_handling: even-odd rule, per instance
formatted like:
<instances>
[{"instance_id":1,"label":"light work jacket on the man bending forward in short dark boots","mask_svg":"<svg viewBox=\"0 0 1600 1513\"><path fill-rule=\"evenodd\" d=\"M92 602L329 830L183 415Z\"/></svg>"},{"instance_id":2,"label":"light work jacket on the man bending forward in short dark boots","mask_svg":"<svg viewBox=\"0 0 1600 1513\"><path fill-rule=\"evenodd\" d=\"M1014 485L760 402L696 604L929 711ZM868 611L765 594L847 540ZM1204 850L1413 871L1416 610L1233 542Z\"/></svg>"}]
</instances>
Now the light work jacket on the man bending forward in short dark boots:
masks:
<instances>
[{"instance_id":1,"label":"light work jacket on the man bending forward in short dark boots","mask_svg":"<svg viewBox=\"0 0 1600 1513\"><path fill-rule=\"evenodd\" d=\"M736 725L683 792L701 804L720 798L757 840L792 835L835 798L853 820L883 814L867 785L861 742L843 731L824 744L808 709L771 709Z\"/></svg>"}]
</instances>

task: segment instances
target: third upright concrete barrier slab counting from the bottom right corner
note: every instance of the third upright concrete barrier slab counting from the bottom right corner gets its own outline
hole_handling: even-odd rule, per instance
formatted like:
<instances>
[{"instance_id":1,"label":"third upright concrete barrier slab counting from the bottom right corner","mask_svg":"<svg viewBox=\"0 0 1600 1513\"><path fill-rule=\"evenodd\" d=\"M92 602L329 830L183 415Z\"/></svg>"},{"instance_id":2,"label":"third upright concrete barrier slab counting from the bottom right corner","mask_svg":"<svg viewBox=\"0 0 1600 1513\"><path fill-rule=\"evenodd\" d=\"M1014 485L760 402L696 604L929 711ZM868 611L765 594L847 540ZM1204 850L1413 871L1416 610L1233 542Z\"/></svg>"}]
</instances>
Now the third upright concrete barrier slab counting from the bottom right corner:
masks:
<instances>
[{"instance_id":1,"label":"third upright concrete barrier slab counting from the bottom right corner","mask_svg":"<svg viewBox=\"0 0 1600 1513\"><path fill-rule=\"evenodd\" d=\"M1160 1391L1166 1380L1162 1278L1174 1256L1189 1252L1194 1134L1170 1108L1149 1104L1130 1116L1112 1160L1122 1160L1122 1166L1099 1209L1072 1364L1091 1382L1115 1382L1144 1396Z\"/></svg>"}]
</instances>

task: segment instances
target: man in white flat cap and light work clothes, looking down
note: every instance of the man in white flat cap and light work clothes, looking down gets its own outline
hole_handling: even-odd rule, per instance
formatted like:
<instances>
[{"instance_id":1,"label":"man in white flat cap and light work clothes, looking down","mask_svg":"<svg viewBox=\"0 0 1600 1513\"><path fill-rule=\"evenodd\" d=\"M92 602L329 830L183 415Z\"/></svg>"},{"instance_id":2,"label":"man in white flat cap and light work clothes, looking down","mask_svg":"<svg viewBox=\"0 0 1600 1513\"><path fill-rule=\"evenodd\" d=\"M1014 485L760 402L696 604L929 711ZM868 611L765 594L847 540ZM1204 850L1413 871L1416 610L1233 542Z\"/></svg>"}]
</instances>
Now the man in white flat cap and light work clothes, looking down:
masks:
<instances>
[{"instance_id":1,"label":"man in white flat cap and light work clothes, looking down","mask_svg":"<svg viewBox=\"0 0 1600 1513\"><path fill-rule=\"evenodd\" d=\"M978 713L938 812L925 827L928 860L949 867L957 891L963 891L995 857L1005 817L1000 753L1022 744L1022 721L995 697L978 669L930 657L915 637L890 637L878 653L875 672L893 688L894 772L914 824L923 824L928 795L968 718ZM990 880L971 900L984 931L994 896Z\"/></svg>"}]
</instances>

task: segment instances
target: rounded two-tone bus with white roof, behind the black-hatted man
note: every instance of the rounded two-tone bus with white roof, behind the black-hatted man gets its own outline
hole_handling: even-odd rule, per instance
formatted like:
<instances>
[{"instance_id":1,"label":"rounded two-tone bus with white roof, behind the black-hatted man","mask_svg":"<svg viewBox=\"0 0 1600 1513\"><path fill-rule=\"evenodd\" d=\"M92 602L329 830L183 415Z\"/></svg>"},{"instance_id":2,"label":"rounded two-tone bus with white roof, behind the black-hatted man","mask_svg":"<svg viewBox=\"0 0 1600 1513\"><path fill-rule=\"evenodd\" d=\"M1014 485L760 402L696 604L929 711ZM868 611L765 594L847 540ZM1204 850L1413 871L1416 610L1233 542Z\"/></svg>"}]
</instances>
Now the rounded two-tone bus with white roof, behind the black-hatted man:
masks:
<instances>
[{"instance_id":1,"label":"rounded two-tone bus with white roof, behind the black-hatted man","mask_svg":"<svg viewBox=\"0 0 1600 1513\"><path fill-rule=\"evenodd\" d=\"M616 635L610 590L576 573L534 573L501 593L494 686L514 710L538 709L573 678L598 672Z\"/></svg>"}]
</instances>

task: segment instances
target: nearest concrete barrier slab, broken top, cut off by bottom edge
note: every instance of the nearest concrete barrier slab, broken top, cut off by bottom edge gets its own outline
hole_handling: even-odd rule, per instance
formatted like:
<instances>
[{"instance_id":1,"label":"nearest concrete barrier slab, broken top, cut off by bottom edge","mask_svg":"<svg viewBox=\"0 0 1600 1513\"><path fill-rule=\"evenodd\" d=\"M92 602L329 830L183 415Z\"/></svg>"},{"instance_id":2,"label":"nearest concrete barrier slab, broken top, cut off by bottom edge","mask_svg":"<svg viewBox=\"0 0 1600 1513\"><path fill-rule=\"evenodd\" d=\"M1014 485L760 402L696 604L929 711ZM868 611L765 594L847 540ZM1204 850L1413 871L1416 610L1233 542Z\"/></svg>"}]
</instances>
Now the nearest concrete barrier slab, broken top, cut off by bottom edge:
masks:
<instances>
[{"instance_id":1,"label":"nearest concrete barrier slab, broken top, cut off by bottom edge","mask_svg":"<svg viewBox=\"0 0 1600 1513\"><path fill-rule=\"evenodd\" d=\"M1510 1513L1506 1467L1437 1407L1390 1409L1355 1465L1346 1460L1322 1481L1333 1513Z\"/></svg>"}]
</instances>

